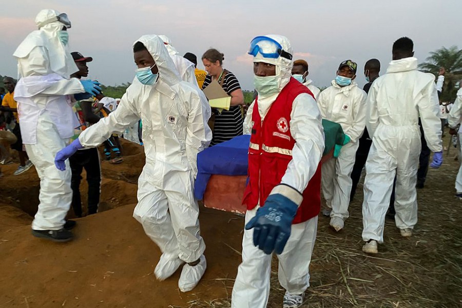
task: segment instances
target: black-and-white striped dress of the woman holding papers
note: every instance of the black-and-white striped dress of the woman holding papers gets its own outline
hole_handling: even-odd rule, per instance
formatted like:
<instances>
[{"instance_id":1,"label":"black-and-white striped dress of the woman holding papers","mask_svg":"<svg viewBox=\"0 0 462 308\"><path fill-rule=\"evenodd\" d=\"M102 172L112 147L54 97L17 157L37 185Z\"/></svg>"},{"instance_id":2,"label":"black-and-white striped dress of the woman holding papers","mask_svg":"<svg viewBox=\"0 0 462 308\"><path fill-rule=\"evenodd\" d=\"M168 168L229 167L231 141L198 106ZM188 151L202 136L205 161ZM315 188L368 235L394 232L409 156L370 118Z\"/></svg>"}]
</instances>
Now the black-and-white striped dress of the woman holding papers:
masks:
<instances>
[{"instance_id":1,"label":"black-and-white striped dress of the woman holding papers","mask_svg":"<svg viewBox=\"0 0 462 308\"><path fill-rule=\"evenodd\" d=\"M207 74L205 76L204 84L202 89L208 86L211 83L211 76ZM220 83L220 80L218 81ZM225 78L223 80L223 90L231 95L231 92L241 88L239 81L236 76L227 71ZM229 110L223 110L221 114L218 111L214 110L215 113L215 125L213 131L213 138L210 142L210 146L216 145L233 139L236 136L239 136L243 132L243 118L241 113L240 106L231 106Z\"/></svg>"}]
</instances>

